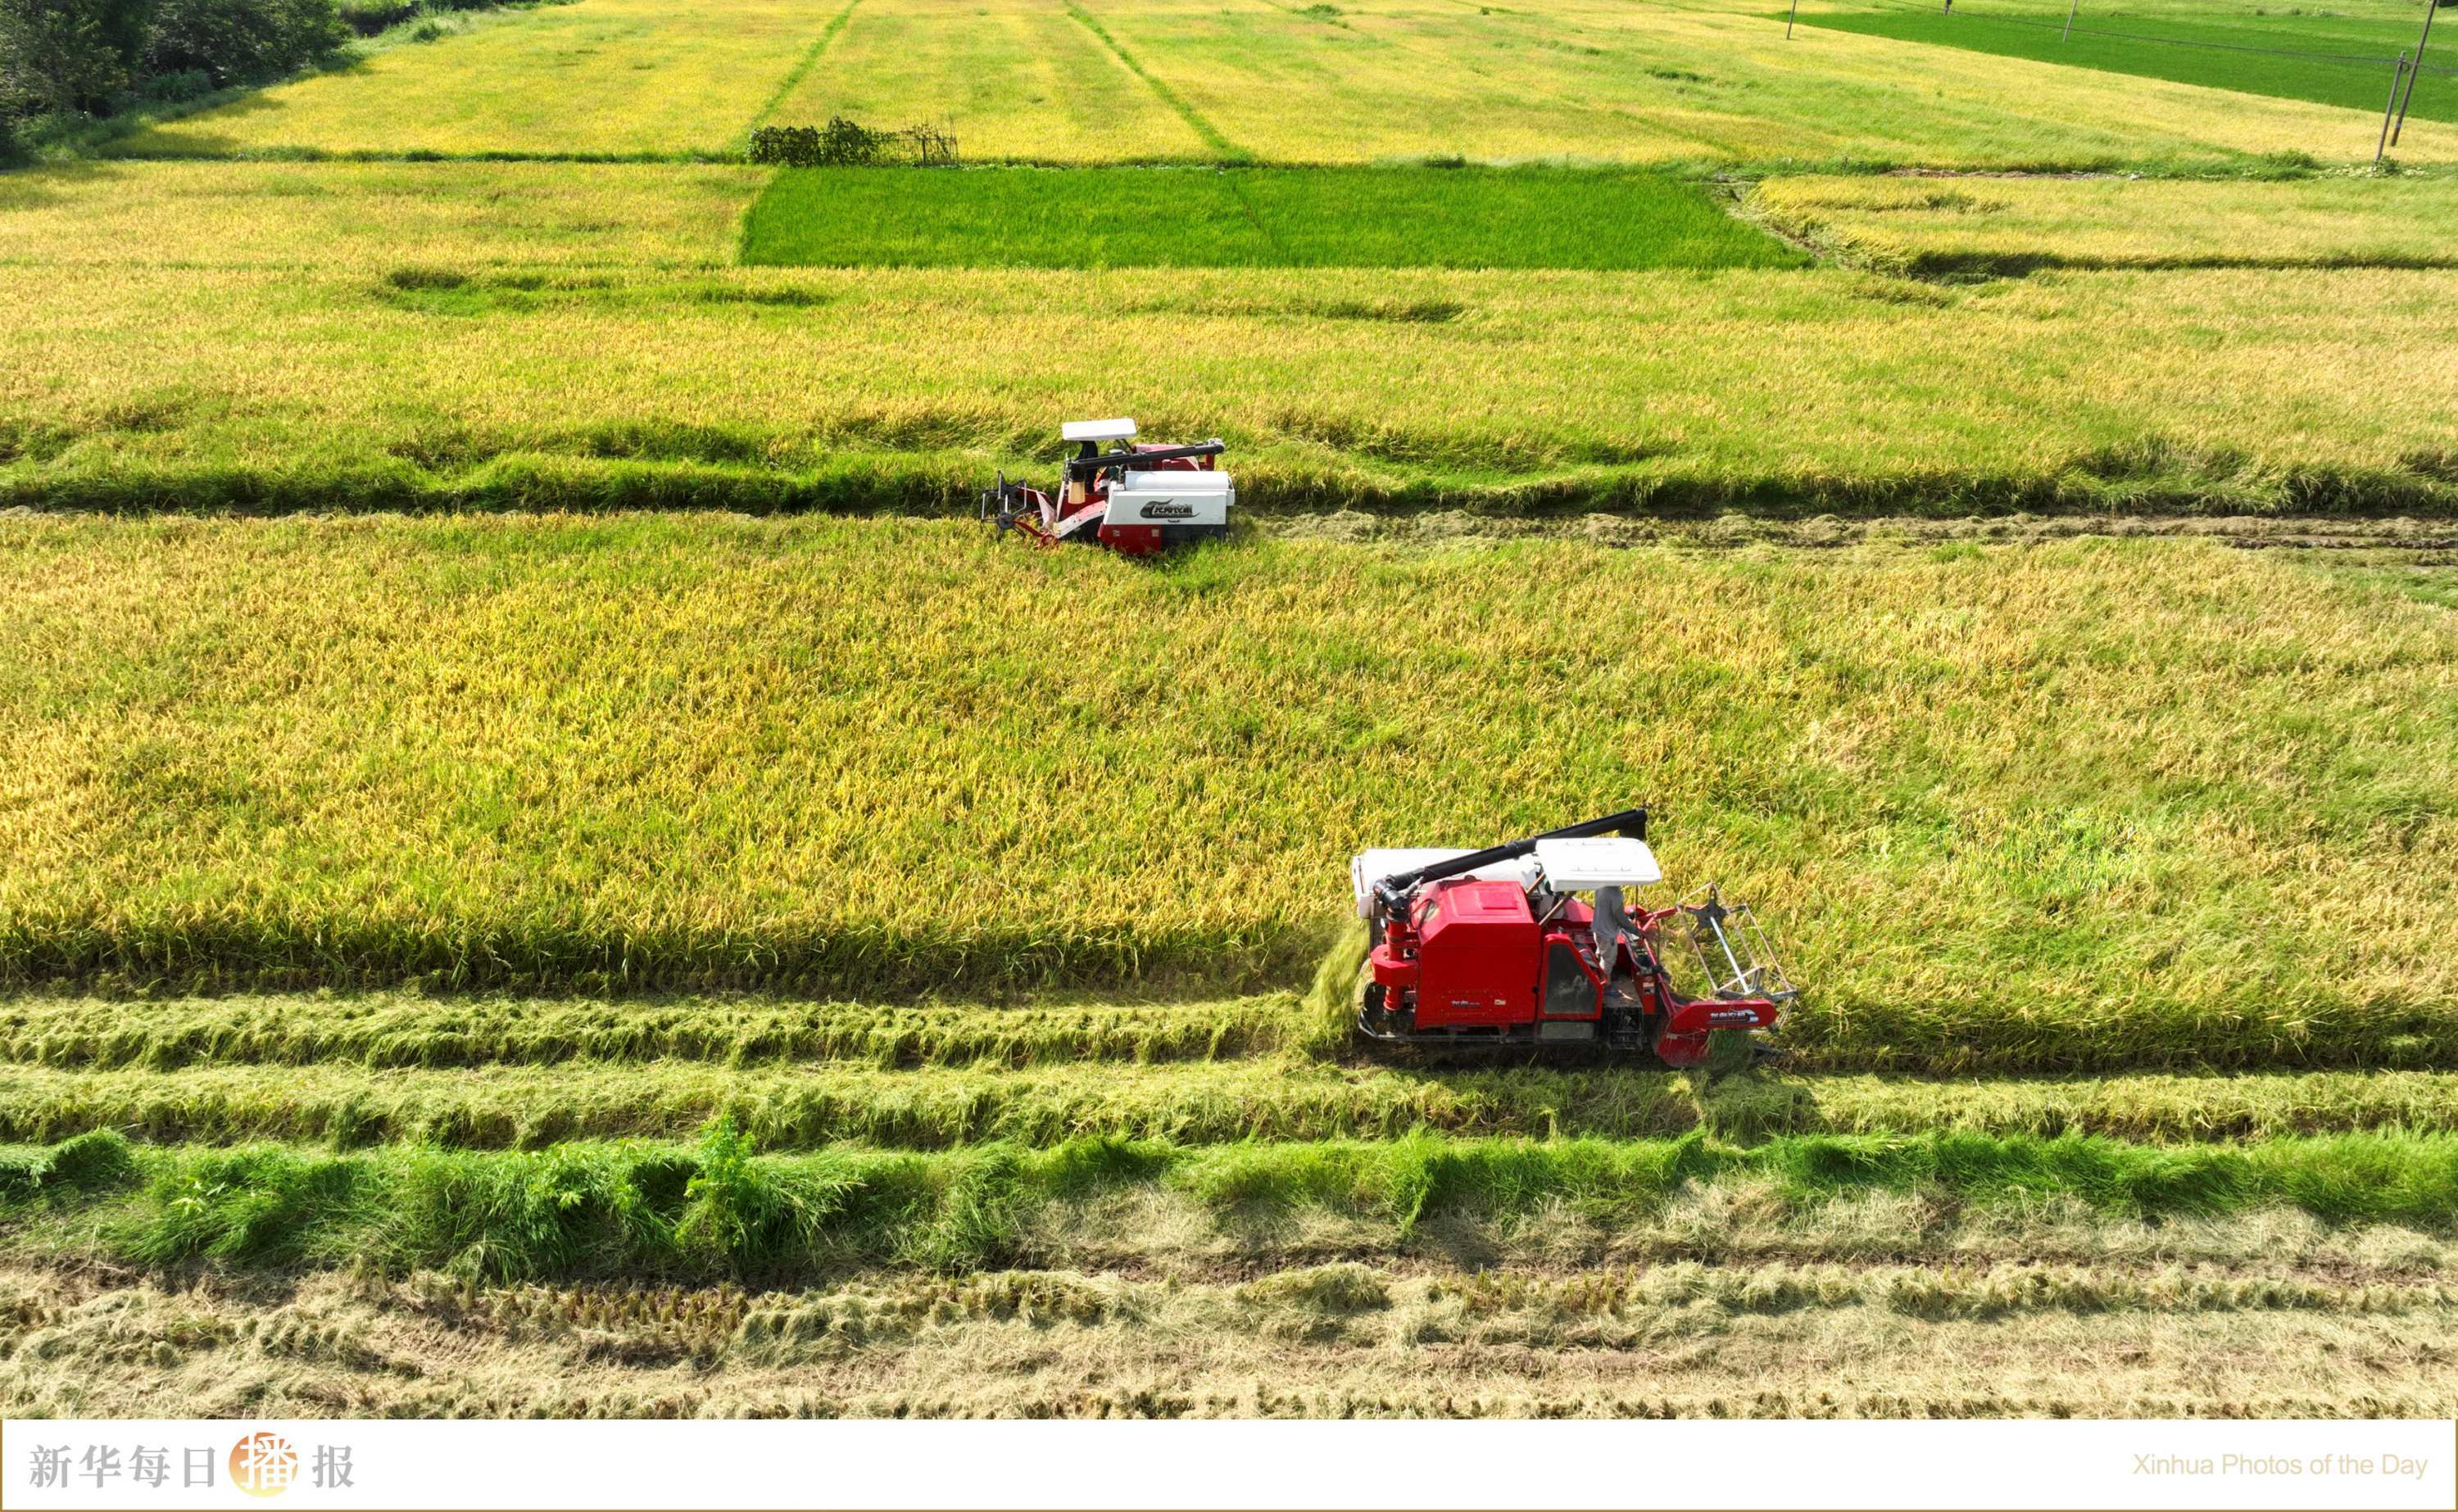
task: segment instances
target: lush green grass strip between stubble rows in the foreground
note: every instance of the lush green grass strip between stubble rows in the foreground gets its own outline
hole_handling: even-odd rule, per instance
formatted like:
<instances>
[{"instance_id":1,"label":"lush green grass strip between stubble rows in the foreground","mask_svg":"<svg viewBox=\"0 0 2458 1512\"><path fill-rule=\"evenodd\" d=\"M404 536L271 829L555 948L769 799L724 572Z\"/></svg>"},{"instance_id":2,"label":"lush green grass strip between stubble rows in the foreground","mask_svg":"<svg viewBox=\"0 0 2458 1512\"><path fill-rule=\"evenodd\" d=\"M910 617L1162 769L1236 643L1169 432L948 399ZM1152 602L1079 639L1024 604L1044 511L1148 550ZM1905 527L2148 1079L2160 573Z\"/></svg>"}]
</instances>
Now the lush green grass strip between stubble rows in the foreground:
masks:
<instances>
[{"instance_id":1,"label":"lush green grass strip between stubble rows in the foreground","mask_svg":"<svg viewBox=\"0 0 2458 1512\"><path fill-rule=\"evenodd\" d=\"M133 1264L376 1264L479 1278L811 1276L843 1266L973 1271L1030 1256L1062 1207L1133 1190L1192 1202L1224 1232L1322 1212L1394 1249L1440 1217L1576 1212L1637 1222L1676 1195L1757 1183L1794 1210L1917 1192L1974 1210L2077 1202L2114 1219L2301 1210L2328 1224L2448 1232L2458 1141L2333 1136L2158 1148L2067 1136L1792 1136L1755 1148L1671 1141L1401 1141L1185 1148L1077 1138L924 1156L757 1156L730 1124L698 1146L575 1143L543 1153L285 1146L138 1148L88 1133L0 1153L0 1217L20 1246L91 1232Z\"/></svg>"}]
</instances>

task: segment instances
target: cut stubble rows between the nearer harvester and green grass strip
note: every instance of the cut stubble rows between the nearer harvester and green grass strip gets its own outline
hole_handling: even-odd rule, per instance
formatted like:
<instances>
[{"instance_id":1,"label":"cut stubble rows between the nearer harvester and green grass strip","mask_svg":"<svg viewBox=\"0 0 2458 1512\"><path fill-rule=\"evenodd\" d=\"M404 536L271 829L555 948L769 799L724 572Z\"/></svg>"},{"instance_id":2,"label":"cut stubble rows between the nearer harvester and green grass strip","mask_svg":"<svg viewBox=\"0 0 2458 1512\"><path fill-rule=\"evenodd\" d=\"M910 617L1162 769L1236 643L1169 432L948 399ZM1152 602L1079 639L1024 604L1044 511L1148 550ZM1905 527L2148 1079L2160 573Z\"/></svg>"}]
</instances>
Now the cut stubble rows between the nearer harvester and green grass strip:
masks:
<instances>
[{"instance_id":1,"label":"cut stubble rows between the nearer harvester and green grass strip","mask_svg":"<svg viewBox=\"0 0 2458 1512\"><path fill-rule=\"evenodd\" d=\"M2448 1072L2067 1077L1927 1082L1662 1069L1369 1069L1295 1057L1224 1065L1042 1065L1027 1072L880 1072L850 1065L590 1065L361 1069L219 1065L179 1072L0 1067L0 1138L96 1128L155 1141L420 1141L541 1148L573 1138L681 1138L735 1119L762 1148L838 1141L951 1148L1079 1136L1224 1143L1391 1138L1411 1131L1647 1138L1770 1133L2102 1133L2229 1141L2286 1133L2458 1131Z\"/></svg>"}]
</instances>

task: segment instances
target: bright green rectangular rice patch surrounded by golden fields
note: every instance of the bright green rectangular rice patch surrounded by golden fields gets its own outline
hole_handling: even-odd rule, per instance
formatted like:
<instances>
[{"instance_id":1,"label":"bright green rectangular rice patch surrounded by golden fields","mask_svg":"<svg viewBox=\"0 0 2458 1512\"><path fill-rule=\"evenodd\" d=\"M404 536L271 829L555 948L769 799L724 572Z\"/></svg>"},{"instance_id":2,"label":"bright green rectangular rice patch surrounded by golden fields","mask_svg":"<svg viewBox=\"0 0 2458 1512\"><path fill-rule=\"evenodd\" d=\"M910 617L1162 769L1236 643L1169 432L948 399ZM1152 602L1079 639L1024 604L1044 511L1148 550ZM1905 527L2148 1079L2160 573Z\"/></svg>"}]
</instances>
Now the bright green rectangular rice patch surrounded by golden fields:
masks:
<instances>
[{"instance_id":1,"label":"bright green rectangular rice patch surrounded by golden fields","mask_svg":"<svg viewBox=\"0 0 2458 1512\"><path fill-rule=\"evenodd\" d=\"M1696 184L1578 170L787 170L742 261L905 268L1797 268Z\"/></svg>"}]
</instances>

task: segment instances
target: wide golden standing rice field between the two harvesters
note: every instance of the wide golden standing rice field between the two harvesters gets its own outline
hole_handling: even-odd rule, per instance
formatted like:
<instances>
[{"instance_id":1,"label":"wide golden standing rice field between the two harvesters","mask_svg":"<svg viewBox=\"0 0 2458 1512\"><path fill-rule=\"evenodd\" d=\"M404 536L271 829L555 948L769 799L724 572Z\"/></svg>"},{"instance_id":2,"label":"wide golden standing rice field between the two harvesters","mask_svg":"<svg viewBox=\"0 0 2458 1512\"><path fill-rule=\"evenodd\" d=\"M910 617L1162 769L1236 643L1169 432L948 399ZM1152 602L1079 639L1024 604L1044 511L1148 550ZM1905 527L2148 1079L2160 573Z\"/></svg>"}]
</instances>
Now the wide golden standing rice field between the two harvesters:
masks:
<instances>
[{"instance_id":1,"label":"wide golden standing rice field between the two harvesters","mask_svg":"<svg viewBox=\"0 0 2458 1512\"><path fill-rule=\"evenodd\" d=\"M2453 1065L2458 624L2276 558L5 529L17 981L1288 981L1354 848L1654 799L1826 1069Z\"/></svg>"}]
</instances>

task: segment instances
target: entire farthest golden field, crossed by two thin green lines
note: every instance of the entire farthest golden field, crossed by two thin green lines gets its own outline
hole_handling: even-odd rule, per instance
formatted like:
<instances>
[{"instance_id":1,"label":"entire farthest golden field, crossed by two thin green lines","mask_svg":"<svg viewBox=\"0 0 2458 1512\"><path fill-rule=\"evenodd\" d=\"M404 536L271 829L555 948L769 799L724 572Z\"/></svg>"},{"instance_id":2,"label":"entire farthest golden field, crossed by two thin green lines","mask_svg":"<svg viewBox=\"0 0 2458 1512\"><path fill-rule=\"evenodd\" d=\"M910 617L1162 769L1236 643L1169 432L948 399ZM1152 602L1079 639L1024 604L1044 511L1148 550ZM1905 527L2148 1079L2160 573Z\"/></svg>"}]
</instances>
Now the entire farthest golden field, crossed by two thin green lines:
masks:
<instances>
[{"instance_id":1,"label":"entire farthest golden field, crossed by two thin green lines","mask_svg":"<svg viewBox=\"0 0 2458 1512\"><path fill-rule=\"evenodd\" d=\"M1814 0L1816 7L1816 0ZM949 125L1010 162L2360 160L2365 111L1804 32L1767 5L583 0L162 123L123 150L713 155L762 123ZM2419 120L2414 162L2458 155Z\"/></svg>"}]
</instances>

